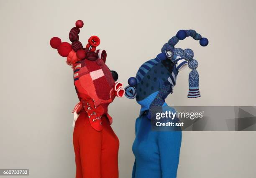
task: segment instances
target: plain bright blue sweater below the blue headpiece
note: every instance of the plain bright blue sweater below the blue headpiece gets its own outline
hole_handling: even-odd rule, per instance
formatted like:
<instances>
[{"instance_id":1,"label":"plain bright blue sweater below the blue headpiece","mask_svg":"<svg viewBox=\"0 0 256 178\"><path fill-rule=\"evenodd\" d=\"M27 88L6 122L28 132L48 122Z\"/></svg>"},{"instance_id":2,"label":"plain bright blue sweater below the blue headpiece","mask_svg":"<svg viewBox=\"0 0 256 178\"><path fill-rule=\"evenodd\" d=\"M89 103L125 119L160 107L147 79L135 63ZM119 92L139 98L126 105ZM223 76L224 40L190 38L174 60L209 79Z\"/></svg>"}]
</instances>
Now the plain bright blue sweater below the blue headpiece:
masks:
<instances>
[{"instance_id":1,"label":"plain bright blue sweater below the blue headpiece","mask_svg":"<svg viewBox=\"0 0 256 178\"><path fill-rule=\"evenodd\" d=\"M176 112L168 106L162 111ZM176 178L182 132L152 131L146 113L136 119L135 132L132 178Z\"/></svg>"}]
</instances>

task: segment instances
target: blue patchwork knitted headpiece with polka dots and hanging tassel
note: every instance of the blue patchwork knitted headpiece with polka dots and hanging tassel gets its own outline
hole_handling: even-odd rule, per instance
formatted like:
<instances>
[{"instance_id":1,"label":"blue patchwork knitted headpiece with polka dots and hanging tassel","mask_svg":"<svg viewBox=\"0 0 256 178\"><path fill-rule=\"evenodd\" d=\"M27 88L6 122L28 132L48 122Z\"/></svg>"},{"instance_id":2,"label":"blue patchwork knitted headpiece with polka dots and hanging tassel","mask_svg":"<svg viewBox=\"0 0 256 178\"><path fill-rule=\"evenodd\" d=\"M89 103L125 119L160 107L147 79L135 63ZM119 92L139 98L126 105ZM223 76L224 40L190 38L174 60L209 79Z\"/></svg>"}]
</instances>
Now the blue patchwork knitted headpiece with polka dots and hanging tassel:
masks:
<instances>
[{"instance_id":1,"label":"blue patchwork knitted headpiece with polka dots and hanging tassel","mask_svg":"<svg viewBox=\"0 0 256 178\"><path fill-rule=\"evenodd\" d=\"M193 59L194 53L191 49L182 50L174 46L187 36L200 40L201 46L207 46L207 38L202 38L194 30L178 31L168 43L165 43L161 53L156 58L151 59L139 68L136 77L128 79L129 86L125 87L125 96L133 99L141 105L142 110L149 110L160 107L164 104L165 98L173 92L177 82L179 71L187 64L192 71L189 74L189 94L188 97L199 97L197 61ZM192 96L193 95L193 96ZM148 116L150 117L150 116Z\"/></svg>"}]
</instances>

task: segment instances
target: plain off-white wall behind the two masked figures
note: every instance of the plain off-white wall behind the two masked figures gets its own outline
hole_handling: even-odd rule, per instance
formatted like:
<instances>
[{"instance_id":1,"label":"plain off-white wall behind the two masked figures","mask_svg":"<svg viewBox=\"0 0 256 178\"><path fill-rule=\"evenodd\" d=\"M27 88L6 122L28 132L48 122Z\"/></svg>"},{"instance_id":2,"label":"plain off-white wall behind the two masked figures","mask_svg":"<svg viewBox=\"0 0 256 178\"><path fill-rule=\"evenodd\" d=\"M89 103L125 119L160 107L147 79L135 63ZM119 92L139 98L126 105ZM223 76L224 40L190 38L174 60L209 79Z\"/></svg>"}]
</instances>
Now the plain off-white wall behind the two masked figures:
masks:
<instances>
[{"instance_id":1,"label":"plain off-white wall behind the two masked figures","mask_svg":"<svg viewBox=\"0 0 256 178\"><path fill-rule=\"evenodd\" d=\"M187 99L184 70L167 103L256 106L255 8L253 0L0 0L0 168L28 168L31 178L74 177L71 112L78 99L72 70L49 40L68 41L76 20L84 21L80 41L99 36L109 68L125 85L178 30L195 29L209 45L186 38L177 47L195 52L202 97ZM120 139L120 178L129 178L139 107L115 99L109 111ZM255 136L183 132L178 178L254 178Z\"/></svg>"}]
</instances>

